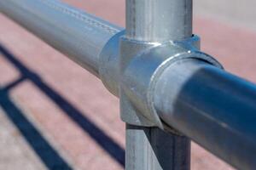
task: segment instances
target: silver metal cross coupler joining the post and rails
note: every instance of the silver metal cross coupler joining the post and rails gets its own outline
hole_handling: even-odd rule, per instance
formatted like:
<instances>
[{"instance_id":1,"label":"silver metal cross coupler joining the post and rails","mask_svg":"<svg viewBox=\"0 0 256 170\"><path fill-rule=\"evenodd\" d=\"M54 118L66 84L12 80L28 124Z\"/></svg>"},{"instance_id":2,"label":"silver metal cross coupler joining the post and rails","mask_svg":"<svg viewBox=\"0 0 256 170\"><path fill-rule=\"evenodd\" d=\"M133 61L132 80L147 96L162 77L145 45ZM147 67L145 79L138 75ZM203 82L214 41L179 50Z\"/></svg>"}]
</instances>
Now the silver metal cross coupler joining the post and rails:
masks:
<instances>
[{"instance_id":1,"label":"silver metal cross coupler joining the post and rails","mask_svg":"<svg viewBox=\"0 0 256 170\"><path fill-rule=\"evenodd\" d=\"M183 41L141 42L126 38L122 31L111 38L102 50L99 72L104 85L120 99L122 120L166 128L154 109L154 86L160 74L183 59L200 59L223 68L199 48L197 36Z\"/></svg>"}]
</instances>

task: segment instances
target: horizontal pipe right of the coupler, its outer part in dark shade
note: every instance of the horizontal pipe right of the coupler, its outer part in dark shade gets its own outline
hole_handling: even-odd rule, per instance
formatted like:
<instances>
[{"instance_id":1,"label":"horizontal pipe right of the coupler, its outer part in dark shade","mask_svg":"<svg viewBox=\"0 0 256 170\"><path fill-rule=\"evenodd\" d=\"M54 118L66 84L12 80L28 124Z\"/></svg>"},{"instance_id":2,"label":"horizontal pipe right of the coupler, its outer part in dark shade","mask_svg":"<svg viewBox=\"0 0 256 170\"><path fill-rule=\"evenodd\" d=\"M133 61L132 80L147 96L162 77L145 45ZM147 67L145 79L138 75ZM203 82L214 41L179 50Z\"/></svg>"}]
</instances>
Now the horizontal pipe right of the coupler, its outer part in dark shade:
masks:
<instances>
[{"instance_id":1,"label":"horizontal pipe right of the coupler, its outer part in dark shade","mask_svg":"<svg viewBox=\"0 0 256 170\"><path fill-rule=\"evenodd\" d=\"M161 119L238 169L256 167L256 86L202 61L162 73L154 91Z\"/></svg>"}]
</instances>

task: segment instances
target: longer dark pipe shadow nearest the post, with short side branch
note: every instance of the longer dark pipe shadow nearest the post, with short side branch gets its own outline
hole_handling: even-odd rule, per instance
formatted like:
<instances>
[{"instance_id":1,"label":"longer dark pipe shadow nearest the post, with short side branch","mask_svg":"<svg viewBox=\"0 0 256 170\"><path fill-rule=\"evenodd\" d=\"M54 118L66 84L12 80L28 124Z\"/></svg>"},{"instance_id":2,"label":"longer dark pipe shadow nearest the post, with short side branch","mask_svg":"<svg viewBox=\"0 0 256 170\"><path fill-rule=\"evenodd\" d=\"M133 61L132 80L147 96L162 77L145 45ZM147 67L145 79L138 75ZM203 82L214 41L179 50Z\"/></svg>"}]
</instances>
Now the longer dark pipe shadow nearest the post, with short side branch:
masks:
<instances>
[{"instance_id":1,"label":"longer dark pipe shadow nearest the post, with short side branch","mask_svg":"<svg viewBox=\"0 0 256 170\"><path fill-rule=\"evenodd\" d=\"M125 150L119 146L113 139L108 137L102 129L97 127L93 122L82 114L81 111L76 109L73 105L71 105L67 99L64 99L60 94L58 94L54 89L50 88L48 84L46 84L36 73L30 71L26 68L26 65L23 65L19 59L17 59L13 54L9 52L8 49L4 48L3 45L0 44L0 53L3 54L3 57L9 60L9 62L15 66L15 68L20 71L21 77L19 80L9 84L9 86L5 87L5 90L10 90L14 88L19 82L27 79L33 82L44 94L51 99L52 102L57 105L61 111L67 114L73 122L76 122L79 127L81 127L85 133L90 134L90 137L99 144L102 149L104 149L110 156L113 157L115 161L117 161L122 167L125 167Z\"/></svg>"}]
</instances>

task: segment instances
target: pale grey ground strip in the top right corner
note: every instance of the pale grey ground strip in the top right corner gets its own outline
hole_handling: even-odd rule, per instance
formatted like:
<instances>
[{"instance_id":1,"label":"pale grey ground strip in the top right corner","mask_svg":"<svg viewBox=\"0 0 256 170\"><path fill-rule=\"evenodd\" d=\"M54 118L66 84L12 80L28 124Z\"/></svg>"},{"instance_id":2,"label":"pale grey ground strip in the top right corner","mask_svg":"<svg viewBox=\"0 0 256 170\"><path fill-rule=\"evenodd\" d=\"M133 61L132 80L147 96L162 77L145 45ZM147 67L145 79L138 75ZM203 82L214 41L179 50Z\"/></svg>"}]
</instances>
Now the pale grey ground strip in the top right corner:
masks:
<instances>
[{"instance_id":1,"label":"pale grey ground strip in the top right corner","mask_svg":"<svg viewBox=\"0 0 256 170\"><path fill-rule=\"evenodd\" d=\"M194 0L195 15L256 31L254 0Z\"/></svg>"}]
</instances>

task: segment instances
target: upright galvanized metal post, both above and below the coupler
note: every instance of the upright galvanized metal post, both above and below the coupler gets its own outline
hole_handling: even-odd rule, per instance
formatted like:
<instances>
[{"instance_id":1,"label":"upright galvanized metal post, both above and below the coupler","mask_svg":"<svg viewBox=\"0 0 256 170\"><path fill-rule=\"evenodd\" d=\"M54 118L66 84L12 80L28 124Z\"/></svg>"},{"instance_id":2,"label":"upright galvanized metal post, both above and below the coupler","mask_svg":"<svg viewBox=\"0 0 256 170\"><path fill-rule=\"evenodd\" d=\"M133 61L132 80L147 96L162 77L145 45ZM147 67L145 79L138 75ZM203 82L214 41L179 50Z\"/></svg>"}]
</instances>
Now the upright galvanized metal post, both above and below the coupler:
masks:
<instances>
[{"instance_id":1,"label":"upright galvanized metal post, both above and below the coupler","mask_svg":"<svg viewBox=\"0 0 256 170\"><path fill-rule=\"evenodd\" d=\"M165 42L192 36L192 0L126 0L125 37ZM126 124L126 170L189 170L190 141L158 127Z\"/></svg>"}]
</instances>

